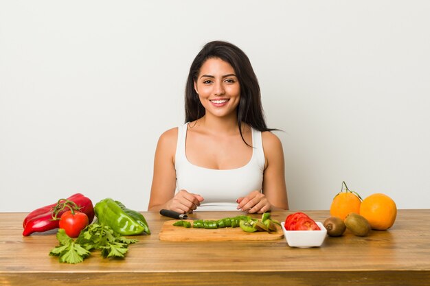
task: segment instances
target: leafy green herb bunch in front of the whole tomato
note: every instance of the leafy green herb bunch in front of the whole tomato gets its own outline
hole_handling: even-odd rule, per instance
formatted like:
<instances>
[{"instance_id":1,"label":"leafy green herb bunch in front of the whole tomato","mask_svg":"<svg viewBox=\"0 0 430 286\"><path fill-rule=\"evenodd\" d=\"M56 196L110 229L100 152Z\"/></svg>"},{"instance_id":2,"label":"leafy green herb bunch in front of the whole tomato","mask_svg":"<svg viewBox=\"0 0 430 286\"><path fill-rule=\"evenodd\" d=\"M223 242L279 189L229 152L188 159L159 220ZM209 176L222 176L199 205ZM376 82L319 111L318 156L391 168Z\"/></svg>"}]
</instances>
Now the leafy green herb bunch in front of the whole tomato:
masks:
<instances>
[{"instance_id":1,"label":"leafy green herb bunch in front of the whole tomato","mask_svg":"<svg viewBox=\"0 0 430 286\"><path fill-rule=\"evenodd\" d=\"M137 242L115 233L110 226L97 223L84 228L76 240L60 228L57 239L60 245L53 248L49 255L58 256L60 262L72 264L84 261L91 254L91 250L100 250L104 258L125 257L128 244Z\"/></svg>"}]
</instances>

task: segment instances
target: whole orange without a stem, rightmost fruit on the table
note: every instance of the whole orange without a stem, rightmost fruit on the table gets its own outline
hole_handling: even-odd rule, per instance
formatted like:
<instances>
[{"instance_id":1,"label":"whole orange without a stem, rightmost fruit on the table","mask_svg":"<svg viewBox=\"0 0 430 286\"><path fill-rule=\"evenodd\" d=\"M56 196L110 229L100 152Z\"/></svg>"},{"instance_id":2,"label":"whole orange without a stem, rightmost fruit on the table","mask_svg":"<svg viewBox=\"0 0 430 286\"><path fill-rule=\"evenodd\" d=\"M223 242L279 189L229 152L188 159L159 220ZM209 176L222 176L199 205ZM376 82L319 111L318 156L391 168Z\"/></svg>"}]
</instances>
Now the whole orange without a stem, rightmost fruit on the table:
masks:
<instances>
[{"instance_id":1,"label":"whole orange without a stem, rightmost fruit on the table","mask_svg":"<svg viewBox=\"0 0 430 286\"><path fill-rule=\"evenodd\" d=\"M383 193L373 193L361 202L360 215L376 230L391 228L396 221L397 206L392 198Z\"/></svg>"}]
</instances>

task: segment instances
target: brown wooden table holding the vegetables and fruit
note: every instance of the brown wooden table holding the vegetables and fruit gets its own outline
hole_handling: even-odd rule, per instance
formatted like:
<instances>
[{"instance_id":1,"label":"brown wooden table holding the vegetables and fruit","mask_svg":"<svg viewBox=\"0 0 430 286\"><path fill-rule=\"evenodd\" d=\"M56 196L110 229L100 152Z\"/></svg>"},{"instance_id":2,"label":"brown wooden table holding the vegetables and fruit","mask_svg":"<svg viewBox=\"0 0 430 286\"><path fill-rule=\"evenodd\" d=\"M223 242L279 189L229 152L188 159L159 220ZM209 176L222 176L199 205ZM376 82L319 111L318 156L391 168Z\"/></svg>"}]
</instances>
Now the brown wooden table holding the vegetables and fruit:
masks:
<instances>
[{"instance_id":1,"label":"brown wooden table holding the vegetables and fruit","mask_svg":"<svg viewBox=\"0 0 430 286\"><path fill-rule=\"evenodd\" d=\"M280 221L293 211L275 211ZM324 221L328 211L306 211ZM26 213L0 213L0 285L429 285L430 210L400 210L394 226L368 237L327 237L320 248L284 239L250 242L159 240L167 217L143 213L151 235L135 237L126 259L94 252L70 265L49 257L55 232L22 236ZM196 213L203 219L237 213ZM258 216L256 216L258 217Z\"/></svg>"}]
</instances>

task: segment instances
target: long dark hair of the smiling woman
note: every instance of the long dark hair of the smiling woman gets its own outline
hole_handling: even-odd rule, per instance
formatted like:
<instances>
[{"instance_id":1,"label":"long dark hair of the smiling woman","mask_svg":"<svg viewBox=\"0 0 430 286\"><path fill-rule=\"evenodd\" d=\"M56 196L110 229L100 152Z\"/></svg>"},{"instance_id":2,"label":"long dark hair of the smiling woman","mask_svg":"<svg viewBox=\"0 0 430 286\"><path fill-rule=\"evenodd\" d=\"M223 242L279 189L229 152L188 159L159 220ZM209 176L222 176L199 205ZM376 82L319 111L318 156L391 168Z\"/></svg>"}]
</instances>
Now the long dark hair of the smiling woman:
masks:
<instances>
[{"instance_id":1,"label":"long dark hair of the smiling woman","mask_svg":"<svg viewBox=\"0 0 430 286\"><path fill-rule=\"evenodd\" d=\"M236 72L240 84L237 119L242 140L246 143L242 135L242 123L247 123L259 131L276 130L267 128L261 103L260 85L248 56L235 45L220 40L207 43L191 64L185 86L185 123L197 120L205 115L205 108L200 102L199 95L194 90L194 82L199 76L202 65L210 58L220 58L228 62ZM246 144L249 145L248 143Z\"/></svg>"}]
</instances>

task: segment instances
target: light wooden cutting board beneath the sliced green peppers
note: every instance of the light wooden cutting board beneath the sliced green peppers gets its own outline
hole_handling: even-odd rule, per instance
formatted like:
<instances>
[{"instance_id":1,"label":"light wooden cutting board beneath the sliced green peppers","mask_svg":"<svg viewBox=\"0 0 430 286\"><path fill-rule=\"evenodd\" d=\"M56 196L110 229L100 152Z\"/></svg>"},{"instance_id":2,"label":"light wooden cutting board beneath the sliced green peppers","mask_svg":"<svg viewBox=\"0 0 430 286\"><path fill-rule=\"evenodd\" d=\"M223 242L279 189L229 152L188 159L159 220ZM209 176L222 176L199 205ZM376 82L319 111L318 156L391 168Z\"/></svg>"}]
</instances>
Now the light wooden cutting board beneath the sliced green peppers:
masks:
<instances>
[{"instance_id":1,"label":"light wooden cutting board beneath the sliced green peppers","mask_svg":"<svg viewBox=\"0 0 430 286\"><path fill-rule=\"evenodd\" d=\"M159 233L159 239L162 241L273 241L282 239L284 233L282 228L277 226L278 230L267 233L257 231L247 233L242 228L184 228L182 226L173 226L177 220L168 220L164 222ZM192 221L189 220L189 222Z\"/></svg>"}]
</instances>

